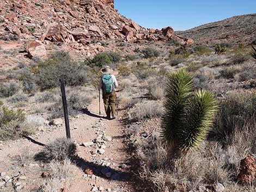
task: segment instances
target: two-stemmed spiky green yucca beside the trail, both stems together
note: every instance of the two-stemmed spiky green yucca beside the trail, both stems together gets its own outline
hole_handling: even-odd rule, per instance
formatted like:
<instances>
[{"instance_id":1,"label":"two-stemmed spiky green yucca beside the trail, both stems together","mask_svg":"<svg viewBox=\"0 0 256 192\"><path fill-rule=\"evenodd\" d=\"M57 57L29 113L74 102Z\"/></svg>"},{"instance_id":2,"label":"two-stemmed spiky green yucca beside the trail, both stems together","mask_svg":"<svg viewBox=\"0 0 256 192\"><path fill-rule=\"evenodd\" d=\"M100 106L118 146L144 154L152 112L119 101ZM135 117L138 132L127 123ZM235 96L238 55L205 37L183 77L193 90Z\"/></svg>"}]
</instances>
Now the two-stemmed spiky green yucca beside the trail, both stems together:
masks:
<instances>
[{"instance_id":1,"label":"two-stemmed spiky green yucca beside the trail, both stems together","mask_svg":"<svg viewBox=\"0 0 256 192\"><path fill-rule=\"evenodd\" d=\"M217 112L215 97L209 91L194 90L192 78L185 69L168 77L161 136L170 158L197 148Z\"/></svg>"}]
</instances>

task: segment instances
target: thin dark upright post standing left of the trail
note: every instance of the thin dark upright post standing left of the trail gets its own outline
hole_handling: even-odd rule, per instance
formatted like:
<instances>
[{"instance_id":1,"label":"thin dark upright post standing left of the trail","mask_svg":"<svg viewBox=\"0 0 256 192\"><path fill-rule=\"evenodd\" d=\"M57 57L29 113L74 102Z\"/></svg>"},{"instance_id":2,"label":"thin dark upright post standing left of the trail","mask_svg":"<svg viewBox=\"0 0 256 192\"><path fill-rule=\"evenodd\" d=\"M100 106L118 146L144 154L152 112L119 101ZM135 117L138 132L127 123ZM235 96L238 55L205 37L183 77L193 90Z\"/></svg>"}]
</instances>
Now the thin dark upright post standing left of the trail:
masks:
<instances>
[{"instance_id":1,"label":"thin dark upright post standing left of the trail","mask_svg":"<svg viewBox=\"0 0 256 192\"><path fill-rule=\"evenodd\" d=\"M70 139L70 127L69 127L69 112L68 105L66 103L66 92L65 92L65 84L64 79L60 79L60 90L62 91L62 103L63 103L63 111L64 111L64 119L65 119L65 127L66 127L66 138Z\"/></svg>"}]
</instances>

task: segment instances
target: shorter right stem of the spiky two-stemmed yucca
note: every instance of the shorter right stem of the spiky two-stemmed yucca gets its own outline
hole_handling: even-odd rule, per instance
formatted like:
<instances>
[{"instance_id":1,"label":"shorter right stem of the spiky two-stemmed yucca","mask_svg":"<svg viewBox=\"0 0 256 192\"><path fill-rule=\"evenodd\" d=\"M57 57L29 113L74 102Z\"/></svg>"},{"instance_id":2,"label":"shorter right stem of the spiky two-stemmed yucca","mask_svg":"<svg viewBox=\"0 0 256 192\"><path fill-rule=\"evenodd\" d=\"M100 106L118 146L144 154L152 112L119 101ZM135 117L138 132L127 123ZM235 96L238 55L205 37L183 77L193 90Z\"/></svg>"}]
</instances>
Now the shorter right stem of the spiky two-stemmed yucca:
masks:
<instances>
[{"instance_id":1,"label":"shorter right stem of the spiky two-stemmed yucca","mask_svg":"<svg viewBox=\"0 0 256 192\"><path fill-rule=\"evenodd\" d=\"M180 152L197 148L212 125L218 110L217 100L209 91L195 91L190 101L184 130L180 136Z\"/></svg>"}]
</instances>

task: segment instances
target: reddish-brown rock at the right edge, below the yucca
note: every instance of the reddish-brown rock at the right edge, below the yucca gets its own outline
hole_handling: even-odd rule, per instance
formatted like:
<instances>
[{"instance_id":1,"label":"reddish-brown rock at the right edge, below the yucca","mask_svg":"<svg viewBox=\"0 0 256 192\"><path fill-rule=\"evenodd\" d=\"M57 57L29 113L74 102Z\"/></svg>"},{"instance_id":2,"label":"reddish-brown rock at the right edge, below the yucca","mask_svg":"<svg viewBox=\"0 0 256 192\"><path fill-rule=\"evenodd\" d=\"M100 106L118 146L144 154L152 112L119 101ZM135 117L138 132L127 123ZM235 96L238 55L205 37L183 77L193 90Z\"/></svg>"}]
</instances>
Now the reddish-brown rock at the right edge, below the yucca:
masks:
<instances>
[{"instance_id":1,"label":"reddish-brown rock at the right edge, below the yucca","mask_svg":"<svg viewBox=\"0 0 256 192\"><path fill-rule=\"evenodd\" d=\"M238 179L242 183L251 183L256 178L256 164L253 156L241 160Z\"/></svg>"}]
</instances>

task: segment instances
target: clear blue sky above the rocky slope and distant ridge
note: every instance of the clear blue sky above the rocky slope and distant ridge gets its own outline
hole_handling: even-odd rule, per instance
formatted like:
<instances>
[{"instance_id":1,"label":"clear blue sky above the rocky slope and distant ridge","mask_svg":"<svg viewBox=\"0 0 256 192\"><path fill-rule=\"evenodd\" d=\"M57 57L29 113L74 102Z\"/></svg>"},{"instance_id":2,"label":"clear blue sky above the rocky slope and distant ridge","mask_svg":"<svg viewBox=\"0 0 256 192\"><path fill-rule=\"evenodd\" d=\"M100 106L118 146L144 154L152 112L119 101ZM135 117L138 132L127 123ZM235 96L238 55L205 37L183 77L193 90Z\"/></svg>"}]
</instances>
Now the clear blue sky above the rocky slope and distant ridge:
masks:
<instances>
[{"instance_id":1,"label":"clear blue sky above the rocky slope and distant ridge","mask_svg":"<svg viewBox=\"0 0 256 192\"><path fill-rule=\"evenodd\" d=\"M118 13L146 28L186 30L224 18L256 13L256 0L114 0Z\"/></svg>"}]
</instances>

